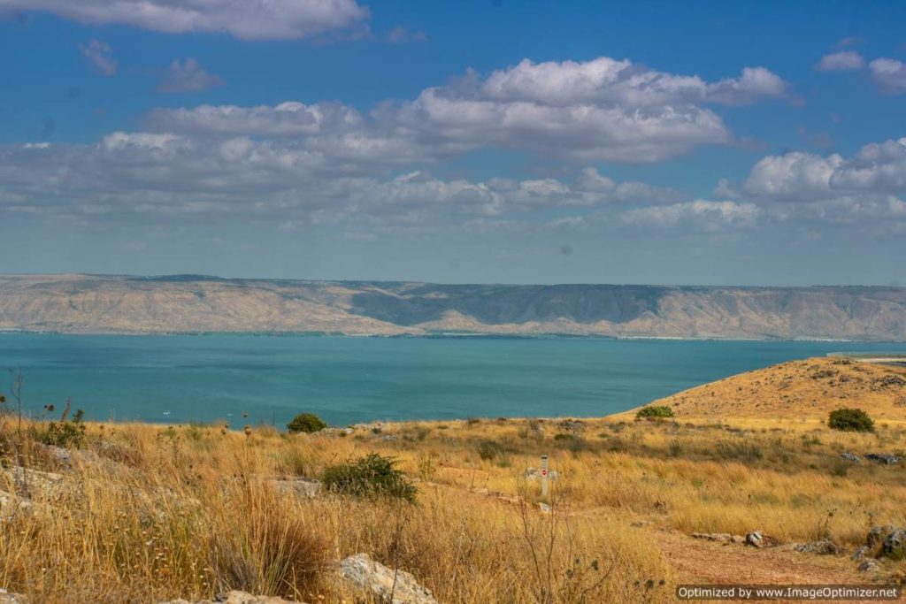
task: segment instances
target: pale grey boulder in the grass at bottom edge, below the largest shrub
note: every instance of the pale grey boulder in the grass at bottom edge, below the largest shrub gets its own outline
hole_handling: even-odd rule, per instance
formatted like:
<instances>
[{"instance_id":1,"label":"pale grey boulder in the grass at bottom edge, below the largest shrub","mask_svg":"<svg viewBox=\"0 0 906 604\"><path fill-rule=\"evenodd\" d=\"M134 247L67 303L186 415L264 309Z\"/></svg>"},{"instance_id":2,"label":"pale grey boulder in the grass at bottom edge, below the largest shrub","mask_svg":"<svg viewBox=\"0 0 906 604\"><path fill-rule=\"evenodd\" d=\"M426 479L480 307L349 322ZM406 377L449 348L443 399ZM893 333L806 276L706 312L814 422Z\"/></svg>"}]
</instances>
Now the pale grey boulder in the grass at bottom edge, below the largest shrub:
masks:
<instances>
[{"instance_id":1,"label":"pale grey boulder in the grass at bottom edge, below the largest shrub","mask_svg":"<svg viewBox=\"0 0 906 604\"><path fill-rule=\"evenodd\" d=\"M344 558L340 575L347 583L388 604L438 604L431 591L419 585L410 573L390 569L371 560L367 553Z\"/></svg>"}]
</instances>

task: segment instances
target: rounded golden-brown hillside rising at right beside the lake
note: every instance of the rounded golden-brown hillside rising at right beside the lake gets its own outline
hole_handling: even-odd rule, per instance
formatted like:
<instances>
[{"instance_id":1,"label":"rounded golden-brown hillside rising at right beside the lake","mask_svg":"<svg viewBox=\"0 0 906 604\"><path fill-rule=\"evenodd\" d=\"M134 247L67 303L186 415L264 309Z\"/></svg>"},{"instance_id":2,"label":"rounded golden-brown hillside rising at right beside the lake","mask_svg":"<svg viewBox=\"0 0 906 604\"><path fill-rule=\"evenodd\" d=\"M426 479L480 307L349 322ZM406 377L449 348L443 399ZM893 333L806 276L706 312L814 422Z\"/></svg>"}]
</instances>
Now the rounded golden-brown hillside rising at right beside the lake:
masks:
<instances>
[{"instance_id":1,"label":"rounded golden-brown hillside rising at right beside the lake","mask_svg":"<svg viewBox=\"0 0 906 604\"><path fill-rule=\"evenodd\" d=\"M906 368L838 358L793 360L690 388L652 403L679 417L827 417L840 407L906 419Z\"/></svg>"}]
</instances>

